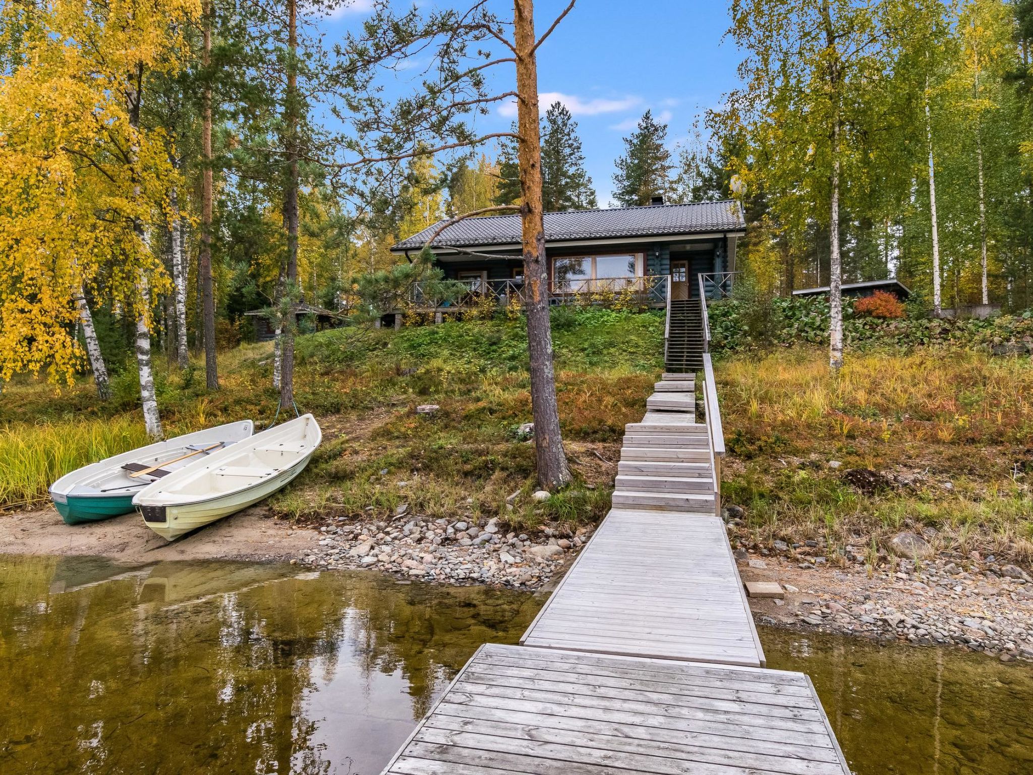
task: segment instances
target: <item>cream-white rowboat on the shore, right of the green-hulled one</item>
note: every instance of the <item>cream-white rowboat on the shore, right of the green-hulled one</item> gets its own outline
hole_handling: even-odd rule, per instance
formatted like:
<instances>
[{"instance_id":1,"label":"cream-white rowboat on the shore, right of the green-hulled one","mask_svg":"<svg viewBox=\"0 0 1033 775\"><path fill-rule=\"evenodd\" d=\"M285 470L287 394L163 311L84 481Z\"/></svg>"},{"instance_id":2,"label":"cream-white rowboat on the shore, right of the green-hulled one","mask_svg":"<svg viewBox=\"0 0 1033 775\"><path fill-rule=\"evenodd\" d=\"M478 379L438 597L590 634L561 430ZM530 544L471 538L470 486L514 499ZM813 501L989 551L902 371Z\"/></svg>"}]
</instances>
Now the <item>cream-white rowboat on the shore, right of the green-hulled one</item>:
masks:
<instances>
[{"instance_id":1,"label":"cream-white rowboat on the shore, right of the green-hulled one","mask_svg":"<svg viewBox=\"0 0 1033 775\"><path fill-rule=\"evenodd\" d=\"M301 473L322 441L305 414L213 453L140 490L144 524L169 540L268 498Z\"/></svg>"}]
</instances>

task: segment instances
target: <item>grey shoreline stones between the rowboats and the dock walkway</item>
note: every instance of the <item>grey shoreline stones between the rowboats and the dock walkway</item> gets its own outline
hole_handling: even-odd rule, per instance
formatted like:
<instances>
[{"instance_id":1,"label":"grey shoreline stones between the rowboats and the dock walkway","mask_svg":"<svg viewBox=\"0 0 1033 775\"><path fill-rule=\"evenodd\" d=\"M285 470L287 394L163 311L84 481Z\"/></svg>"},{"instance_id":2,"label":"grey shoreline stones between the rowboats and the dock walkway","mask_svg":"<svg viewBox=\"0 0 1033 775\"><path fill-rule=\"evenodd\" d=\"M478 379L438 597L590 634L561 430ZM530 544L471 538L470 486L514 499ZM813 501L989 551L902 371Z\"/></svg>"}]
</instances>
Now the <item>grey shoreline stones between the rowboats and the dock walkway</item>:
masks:
<instances>
[{"instance_id":1,"label":"grey shoreline stones between the rowboats and the dock walkway","mask_svg":"<svg viewBox=\"0 0 1033 775\"><path fill-rule=\"evenodd\" d=\"M588 541L543 527L534 534L503 533L498 519L438 519L400 506L389 521L349 521L319 528L317 546L300 562L316 568L375 568L409 579L449 584L492 584L534 589L547 582L571 552Z\"/></svg>"}]
</instances>

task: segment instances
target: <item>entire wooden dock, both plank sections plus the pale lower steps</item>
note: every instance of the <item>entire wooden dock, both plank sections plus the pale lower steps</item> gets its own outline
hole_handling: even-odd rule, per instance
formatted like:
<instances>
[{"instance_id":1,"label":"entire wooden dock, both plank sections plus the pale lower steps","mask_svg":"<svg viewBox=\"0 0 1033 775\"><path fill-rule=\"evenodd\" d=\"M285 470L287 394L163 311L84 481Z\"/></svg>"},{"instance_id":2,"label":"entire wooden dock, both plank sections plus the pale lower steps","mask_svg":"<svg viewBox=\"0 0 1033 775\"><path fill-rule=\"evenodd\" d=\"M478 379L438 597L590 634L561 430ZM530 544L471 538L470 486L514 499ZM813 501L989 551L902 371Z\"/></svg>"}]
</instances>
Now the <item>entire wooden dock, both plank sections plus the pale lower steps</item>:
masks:
<instances>
[{"instance_id":1,"label":"entire wooden dock, both plank sections plus the pale lower steps","mask_svg":"<svg viewBox=\"0 0 1033 775\"><path fill-rule=\"evenodd\" d=\"M521 646L478 649L383 775L850 775L811 680L763 667L694 391L663 375Z\"/></svg>"}]
</instances>

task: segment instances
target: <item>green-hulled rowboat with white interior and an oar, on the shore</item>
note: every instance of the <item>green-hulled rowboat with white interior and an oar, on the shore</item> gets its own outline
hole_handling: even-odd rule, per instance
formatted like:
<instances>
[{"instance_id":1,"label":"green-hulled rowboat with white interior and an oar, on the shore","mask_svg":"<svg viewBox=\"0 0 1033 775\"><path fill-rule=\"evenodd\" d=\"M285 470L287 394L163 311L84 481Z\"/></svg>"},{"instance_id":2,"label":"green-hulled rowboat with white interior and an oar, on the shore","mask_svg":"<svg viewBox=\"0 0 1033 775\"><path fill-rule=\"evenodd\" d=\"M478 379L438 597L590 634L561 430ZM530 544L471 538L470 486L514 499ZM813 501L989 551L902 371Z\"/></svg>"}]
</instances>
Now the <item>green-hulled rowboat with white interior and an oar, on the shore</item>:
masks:
<instances>
[{"instance_id":1,"label":"green-hulled rowboat with white interior and an oar, on the shore","mask_svg":"<svg viewBox=\"0 0 1033 775\"><path fill-rule=\"evenodd\" d=\"M254 424L244 420L122 453L66 473L51 485L51 499L68 525L129 514L133 496L152 482L249 438L253 432Z\"/></svg>"}]
</instances>

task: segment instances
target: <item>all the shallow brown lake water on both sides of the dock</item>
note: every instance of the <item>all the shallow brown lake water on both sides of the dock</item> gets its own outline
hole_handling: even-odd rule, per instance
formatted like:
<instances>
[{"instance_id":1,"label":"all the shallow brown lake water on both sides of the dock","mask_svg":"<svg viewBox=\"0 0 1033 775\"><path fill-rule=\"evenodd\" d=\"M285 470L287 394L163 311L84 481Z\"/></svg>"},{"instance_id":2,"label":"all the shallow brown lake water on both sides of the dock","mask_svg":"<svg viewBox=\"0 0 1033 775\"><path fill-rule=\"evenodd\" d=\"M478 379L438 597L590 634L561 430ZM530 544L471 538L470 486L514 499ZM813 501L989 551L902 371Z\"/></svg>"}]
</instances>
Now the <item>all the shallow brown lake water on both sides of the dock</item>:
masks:
<instances>
[{"instance_id":1,"label":"all the shallow brown lake water on both sides of the dock","mask_svg":"<svg viewBox=\"0 0 1033 775\"><path fill-rule=\"evenodd\" d=\"M0 772L376 775L527 593L228 562L0 559ZM858 775L1033 773L1033 667L760 632Z\"/></svg>"}]
</instances>

